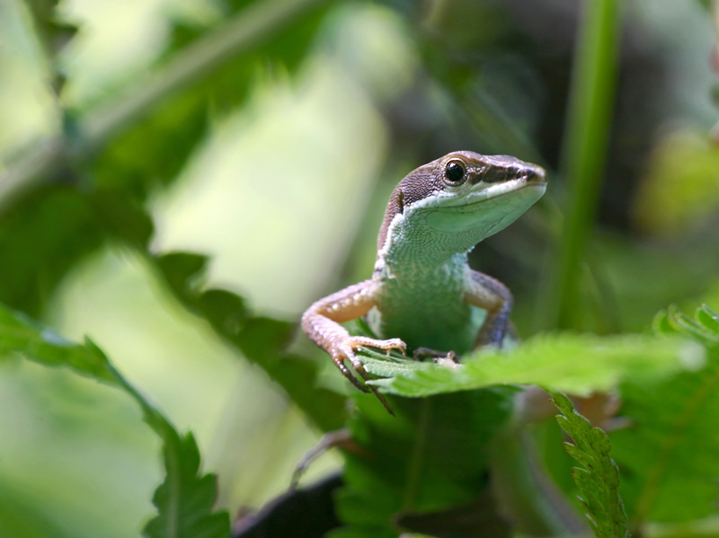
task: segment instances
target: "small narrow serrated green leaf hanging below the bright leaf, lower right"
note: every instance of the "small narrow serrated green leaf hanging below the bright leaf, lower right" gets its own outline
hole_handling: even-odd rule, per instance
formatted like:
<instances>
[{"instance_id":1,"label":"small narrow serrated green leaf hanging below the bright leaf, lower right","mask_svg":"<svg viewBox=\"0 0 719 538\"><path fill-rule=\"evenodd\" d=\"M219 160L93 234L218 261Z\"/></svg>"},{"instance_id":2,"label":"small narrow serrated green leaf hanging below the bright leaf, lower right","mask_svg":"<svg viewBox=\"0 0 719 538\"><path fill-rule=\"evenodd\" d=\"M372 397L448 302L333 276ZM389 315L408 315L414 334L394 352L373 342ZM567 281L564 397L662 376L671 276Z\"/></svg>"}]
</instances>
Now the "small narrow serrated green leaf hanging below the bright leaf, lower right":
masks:
<instances>
[{"instance_id":1,"label":"small narrow serrated green leaf hanging below the bright leaf, lower right","mask_svg":"<svg viewBox=\"0 0 719 538\"><path fill-rule=\"evenodd\" d=\"M609 457L609 438L600 428L592 428L572 401L561 392L551 392L552 401L561 414L556 419L574 444L565 443L567 452L582 467L573 468L573 477L580 490L580 502L597 538L628 536L626 513L619 497L617 464Z\"/></svg>"}]
</instances>

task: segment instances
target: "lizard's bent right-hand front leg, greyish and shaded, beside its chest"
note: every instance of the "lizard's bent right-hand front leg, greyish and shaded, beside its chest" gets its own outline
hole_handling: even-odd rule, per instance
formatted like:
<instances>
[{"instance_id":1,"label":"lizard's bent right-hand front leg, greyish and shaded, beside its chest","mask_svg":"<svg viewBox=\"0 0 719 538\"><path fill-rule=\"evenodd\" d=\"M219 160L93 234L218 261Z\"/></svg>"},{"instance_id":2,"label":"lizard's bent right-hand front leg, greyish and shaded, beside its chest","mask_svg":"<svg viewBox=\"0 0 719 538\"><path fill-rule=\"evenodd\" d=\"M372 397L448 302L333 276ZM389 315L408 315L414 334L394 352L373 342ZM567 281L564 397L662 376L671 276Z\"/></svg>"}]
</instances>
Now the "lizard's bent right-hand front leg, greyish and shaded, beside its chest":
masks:
<instances>
[{"instance_id":1,"label":"lizard's bent right-hand front leg, greyish and shaded, beside its chest","mask_svg":"<svg viewBox=\"0 0 719 538\"><path fill-rule=\"evenodd\" d=\"M473 270L465 301L487 311L475 339L475 348L487 345L501 347L510 322L512 296L509 288L499 280Z\"/></svg>"}]
</instances>

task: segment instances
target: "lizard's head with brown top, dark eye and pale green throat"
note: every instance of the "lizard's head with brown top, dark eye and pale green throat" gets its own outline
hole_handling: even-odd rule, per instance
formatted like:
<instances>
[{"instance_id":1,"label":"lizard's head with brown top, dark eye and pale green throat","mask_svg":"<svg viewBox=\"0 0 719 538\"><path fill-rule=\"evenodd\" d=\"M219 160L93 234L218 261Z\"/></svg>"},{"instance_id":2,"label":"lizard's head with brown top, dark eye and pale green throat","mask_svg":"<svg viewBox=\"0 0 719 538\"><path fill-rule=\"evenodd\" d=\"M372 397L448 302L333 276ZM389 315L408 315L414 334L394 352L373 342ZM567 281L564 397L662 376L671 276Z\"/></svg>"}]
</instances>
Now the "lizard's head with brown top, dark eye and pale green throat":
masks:
<instances>
[{"instance_id":1,"label":"lizard's head with brown top, dark eye and pale green throat","mask_svg":"<svg viewBox=\"0 0 719 538\"><path fill-rule=\"evenodd\" d=\"M447 154L399 182L378 248L386 251L410 234L438 255L467 251L513 223L545 190L545 171L536 164L509 155Z\"/></svg>"}]
</instances>

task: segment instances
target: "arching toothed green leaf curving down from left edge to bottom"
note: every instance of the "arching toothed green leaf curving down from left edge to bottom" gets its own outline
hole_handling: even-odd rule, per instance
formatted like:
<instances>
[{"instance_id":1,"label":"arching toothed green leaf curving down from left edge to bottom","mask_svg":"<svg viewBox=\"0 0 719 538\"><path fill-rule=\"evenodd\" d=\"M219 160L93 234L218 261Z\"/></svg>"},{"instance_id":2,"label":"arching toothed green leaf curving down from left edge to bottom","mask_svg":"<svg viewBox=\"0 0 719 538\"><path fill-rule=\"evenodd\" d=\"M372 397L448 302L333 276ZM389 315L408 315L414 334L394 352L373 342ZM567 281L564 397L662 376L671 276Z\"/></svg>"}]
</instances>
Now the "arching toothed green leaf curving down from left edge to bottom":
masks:
<instances>
[{"instance_id":1,"label":"arching toothed green leaf curving down from left edge to bottom","mask_svg":"<svg viewBox=\"0 0 719 538\"><path fill-rule=\"evenodd\" d=\"M164 482L153 501L159 515L145 529L149 538L227 538L229 515L212 511L215 476L200 473L200 453L191 434L180 436L164 415L120 375L92 340L84 345L64 340L22 314L0 306L0 355L18 352L45 366L67 366L75 373L111 384L129 394L147 424L163 441Z\"/></svg>"}]
</instances>

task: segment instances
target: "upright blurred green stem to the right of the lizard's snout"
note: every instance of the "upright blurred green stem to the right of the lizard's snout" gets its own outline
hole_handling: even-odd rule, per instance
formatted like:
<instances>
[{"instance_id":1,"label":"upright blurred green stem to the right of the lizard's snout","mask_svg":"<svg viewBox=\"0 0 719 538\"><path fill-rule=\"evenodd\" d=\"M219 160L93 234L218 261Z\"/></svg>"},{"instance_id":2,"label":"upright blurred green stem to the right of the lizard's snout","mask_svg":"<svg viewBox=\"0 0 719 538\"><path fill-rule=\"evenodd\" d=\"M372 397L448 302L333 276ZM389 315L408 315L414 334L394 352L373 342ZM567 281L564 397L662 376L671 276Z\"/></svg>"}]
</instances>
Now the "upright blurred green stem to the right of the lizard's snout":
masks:
<instances>
[{"instance_id":1,"label":"upright blurred green stem to the right of the lizard's snout","mask_svg":"<svg viewBox=\"0 0 719 538\"><path fill-rule=\"evenodd\" d=\"M573 66L562 169L569 184L559 266L544 302L546 328L573 328L581 262L585 259L599 203L617 79L618 0L588 0Z\"/></svg>"}]
</instances>

